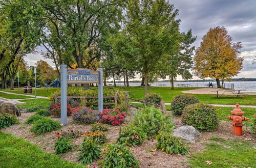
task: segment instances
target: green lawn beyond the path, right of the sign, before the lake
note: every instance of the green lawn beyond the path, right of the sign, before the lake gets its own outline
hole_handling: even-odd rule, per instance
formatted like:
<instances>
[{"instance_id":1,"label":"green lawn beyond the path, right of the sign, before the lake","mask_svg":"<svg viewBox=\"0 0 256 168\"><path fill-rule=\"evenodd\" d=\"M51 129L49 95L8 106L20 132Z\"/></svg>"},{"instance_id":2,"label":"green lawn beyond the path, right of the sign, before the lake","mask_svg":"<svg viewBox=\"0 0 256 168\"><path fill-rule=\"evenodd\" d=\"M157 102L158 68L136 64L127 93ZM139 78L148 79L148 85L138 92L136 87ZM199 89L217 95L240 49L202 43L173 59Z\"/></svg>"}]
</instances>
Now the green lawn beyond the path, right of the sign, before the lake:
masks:
<instances>
[{"instance_id":1,"label":"green lawn beyond the path, right of the sign, before the lake","mask_svg":"<svg viewBox=\"0 0 256 168\"><path fill-rule=\"evenodd\" d=\"M173 100L175 96L186 94L182 91L193 90L197 88L175 88L175 90L170 90L169 87L148 87L148 93L154 92L158 93L161 98L169 103ZM123 91L129 91L133 94L132 98L142 100L144 98L144 87L129 87L123 88ZM243 95L242 99L239 99L235 96L223 96L220 99L217 99L216 96L210 94L191 94L196 96L200 102L208 104L236 104L241 105L256 105L256 95ZM168 109L168 108L167 108Z\"/></svg>"}]
</instances>

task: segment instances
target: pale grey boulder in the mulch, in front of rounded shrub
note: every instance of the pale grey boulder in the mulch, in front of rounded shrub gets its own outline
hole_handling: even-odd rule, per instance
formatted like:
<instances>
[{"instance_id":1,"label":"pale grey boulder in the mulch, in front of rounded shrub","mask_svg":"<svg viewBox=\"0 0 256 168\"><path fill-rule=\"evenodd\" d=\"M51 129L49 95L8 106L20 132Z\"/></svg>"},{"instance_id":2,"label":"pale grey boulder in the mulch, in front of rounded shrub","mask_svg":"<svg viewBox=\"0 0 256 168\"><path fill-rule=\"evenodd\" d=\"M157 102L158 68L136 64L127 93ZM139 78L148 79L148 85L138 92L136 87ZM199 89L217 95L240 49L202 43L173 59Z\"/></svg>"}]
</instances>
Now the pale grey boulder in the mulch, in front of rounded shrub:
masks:
<instances>
[{"instance_id":1,"label":"pale grey boulder in the mulch, in front of rounded shrub","mask_svg":"<svg viewBox=\"0 0 256 168\"><path fill-rule=\"evenodd\" d=\"M180 137L181 141L185 143L195 143L201 134L196 128L185 125L174 129L172 135Z\"/></svg>"}]
</instances>

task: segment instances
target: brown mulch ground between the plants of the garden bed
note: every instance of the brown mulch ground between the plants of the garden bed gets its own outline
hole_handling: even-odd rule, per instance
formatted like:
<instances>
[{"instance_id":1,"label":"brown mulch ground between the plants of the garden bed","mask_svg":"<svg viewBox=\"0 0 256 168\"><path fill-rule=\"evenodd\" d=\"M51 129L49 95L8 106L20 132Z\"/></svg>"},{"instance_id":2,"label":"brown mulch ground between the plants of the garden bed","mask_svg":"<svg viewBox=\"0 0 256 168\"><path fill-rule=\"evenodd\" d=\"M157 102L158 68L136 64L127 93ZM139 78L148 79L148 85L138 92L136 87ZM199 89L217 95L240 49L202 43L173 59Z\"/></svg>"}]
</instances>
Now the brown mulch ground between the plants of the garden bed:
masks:
<instances>
[{"instance_id":1,"label":"brown mulch ground between the plants of the garden bed","mask_svg":"<svg viewBox=\"0 0 256 168\"><path fill-rule=\"evenodd\" d=\"M73 119L68 117L68 125L62 127L59 131L54 131L50 133L44 133L42 135L35 135L33 132L30 132L29 129L31 125L25 124L24 121L34 113L22 113L22 116L18 117L20 124L14 125L12 127L8 127L6 129L1 129L3 132L9 132L14 136L22 137L26 141L29 141L37 146L41 147L48 153L54 152L54 142L56 141L57 137L55 134L61 131L68 131L68 130L78 130L80 133L84 133L86 131L90 131L90 125L81 125L73 123ZM53 120L59 121L59 118L53 118ZM181 118L173 118L175 124L181 123ZM228 126L229 125L229 126ZM245 130L245 127L244 127ZM119 127L111 127L109 131L106 132L108 142L114 143L118 138ZM252 133L247 132L246 136L236 136L232 134L232 127L230 123L226 121L222 121L220 126L213 132L202 132L201 138L195 144L189 144L189 154L193 155L199 151L202 151L205 146L202 143L209 143L209 138L211 136L218 136L225 139L253 139L253 143L255 143L255 137ZM74 139L74 150L70 151L67 154L62 154L61 157L63 159L77 162L78 157L78 147L82 143L83 137L80 136ZM175 154L167 154L165 152L160 152L155 149L156 146L155 139L149 139L145 141L141 146L132 147L131 150L133 151L135 157L140 160L140 167L189 167L186 165L186 161L188 158L182 155L175 155ZM149 149L153 152L149 152ZM92 165L95 165L97 162L95 161Z\"/></svg>"}]
</instances>

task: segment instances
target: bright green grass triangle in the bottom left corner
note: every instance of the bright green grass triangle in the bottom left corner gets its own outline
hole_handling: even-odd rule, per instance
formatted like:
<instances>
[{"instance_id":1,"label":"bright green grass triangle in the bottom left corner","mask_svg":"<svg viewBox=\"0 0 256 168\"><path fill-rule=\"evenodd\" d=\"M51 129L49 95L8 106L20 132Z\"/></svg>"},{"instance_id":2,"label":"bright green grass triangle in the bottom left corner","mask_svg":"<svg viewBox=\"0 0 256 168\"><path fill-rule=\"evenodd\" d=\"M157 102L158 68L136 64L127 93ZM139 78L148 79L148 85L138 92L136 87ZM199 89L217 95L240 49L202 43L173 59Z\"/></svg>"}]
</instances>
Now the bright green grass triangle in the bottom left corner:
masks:
<instances>
[{"instance_id":1,"label":"bright green grass triangle in the bottom left corner","mask_svg":"<svg viewBox=\"0 0 256 168\"><path fill-rule=\"evenodd\" d=\"M86 167L48 154L23 138L0 131L0 167Z\"/></svg>"}]
</instances>

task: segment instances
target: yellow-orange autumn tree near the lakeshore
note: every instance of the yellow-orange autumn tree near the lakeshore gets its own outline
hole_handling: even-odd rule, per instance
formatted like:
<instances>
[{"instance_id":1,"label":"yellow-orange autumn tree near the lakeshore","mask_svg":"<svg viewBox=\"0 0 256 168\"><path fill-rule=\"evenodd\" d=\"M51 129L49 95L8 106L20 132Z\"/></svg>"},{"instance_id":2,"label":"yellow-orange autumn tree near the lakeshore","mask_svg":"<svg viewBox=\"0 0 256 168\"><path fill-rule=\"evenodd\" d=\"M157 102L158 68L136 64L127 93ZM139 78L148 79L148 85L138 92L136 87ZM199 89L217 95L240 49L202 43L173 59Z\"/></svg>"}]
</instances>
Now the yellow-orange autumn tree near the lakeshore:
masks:
<instances>
[{"instance_id":1,"label":"yellow-orange autumn tree near the lakeshore","mask_svg":"<svg viewBox=\"0 0 256 168\"><path fill-rule=\"evenodd\" d=\"M243 68L243 58L239 57L241 42L233 43L225 27L210 29L203 36L194 58L195 74L200 78L216 78L218 88L220 79L231 81Z\"/></svg>"}]
</instances>

